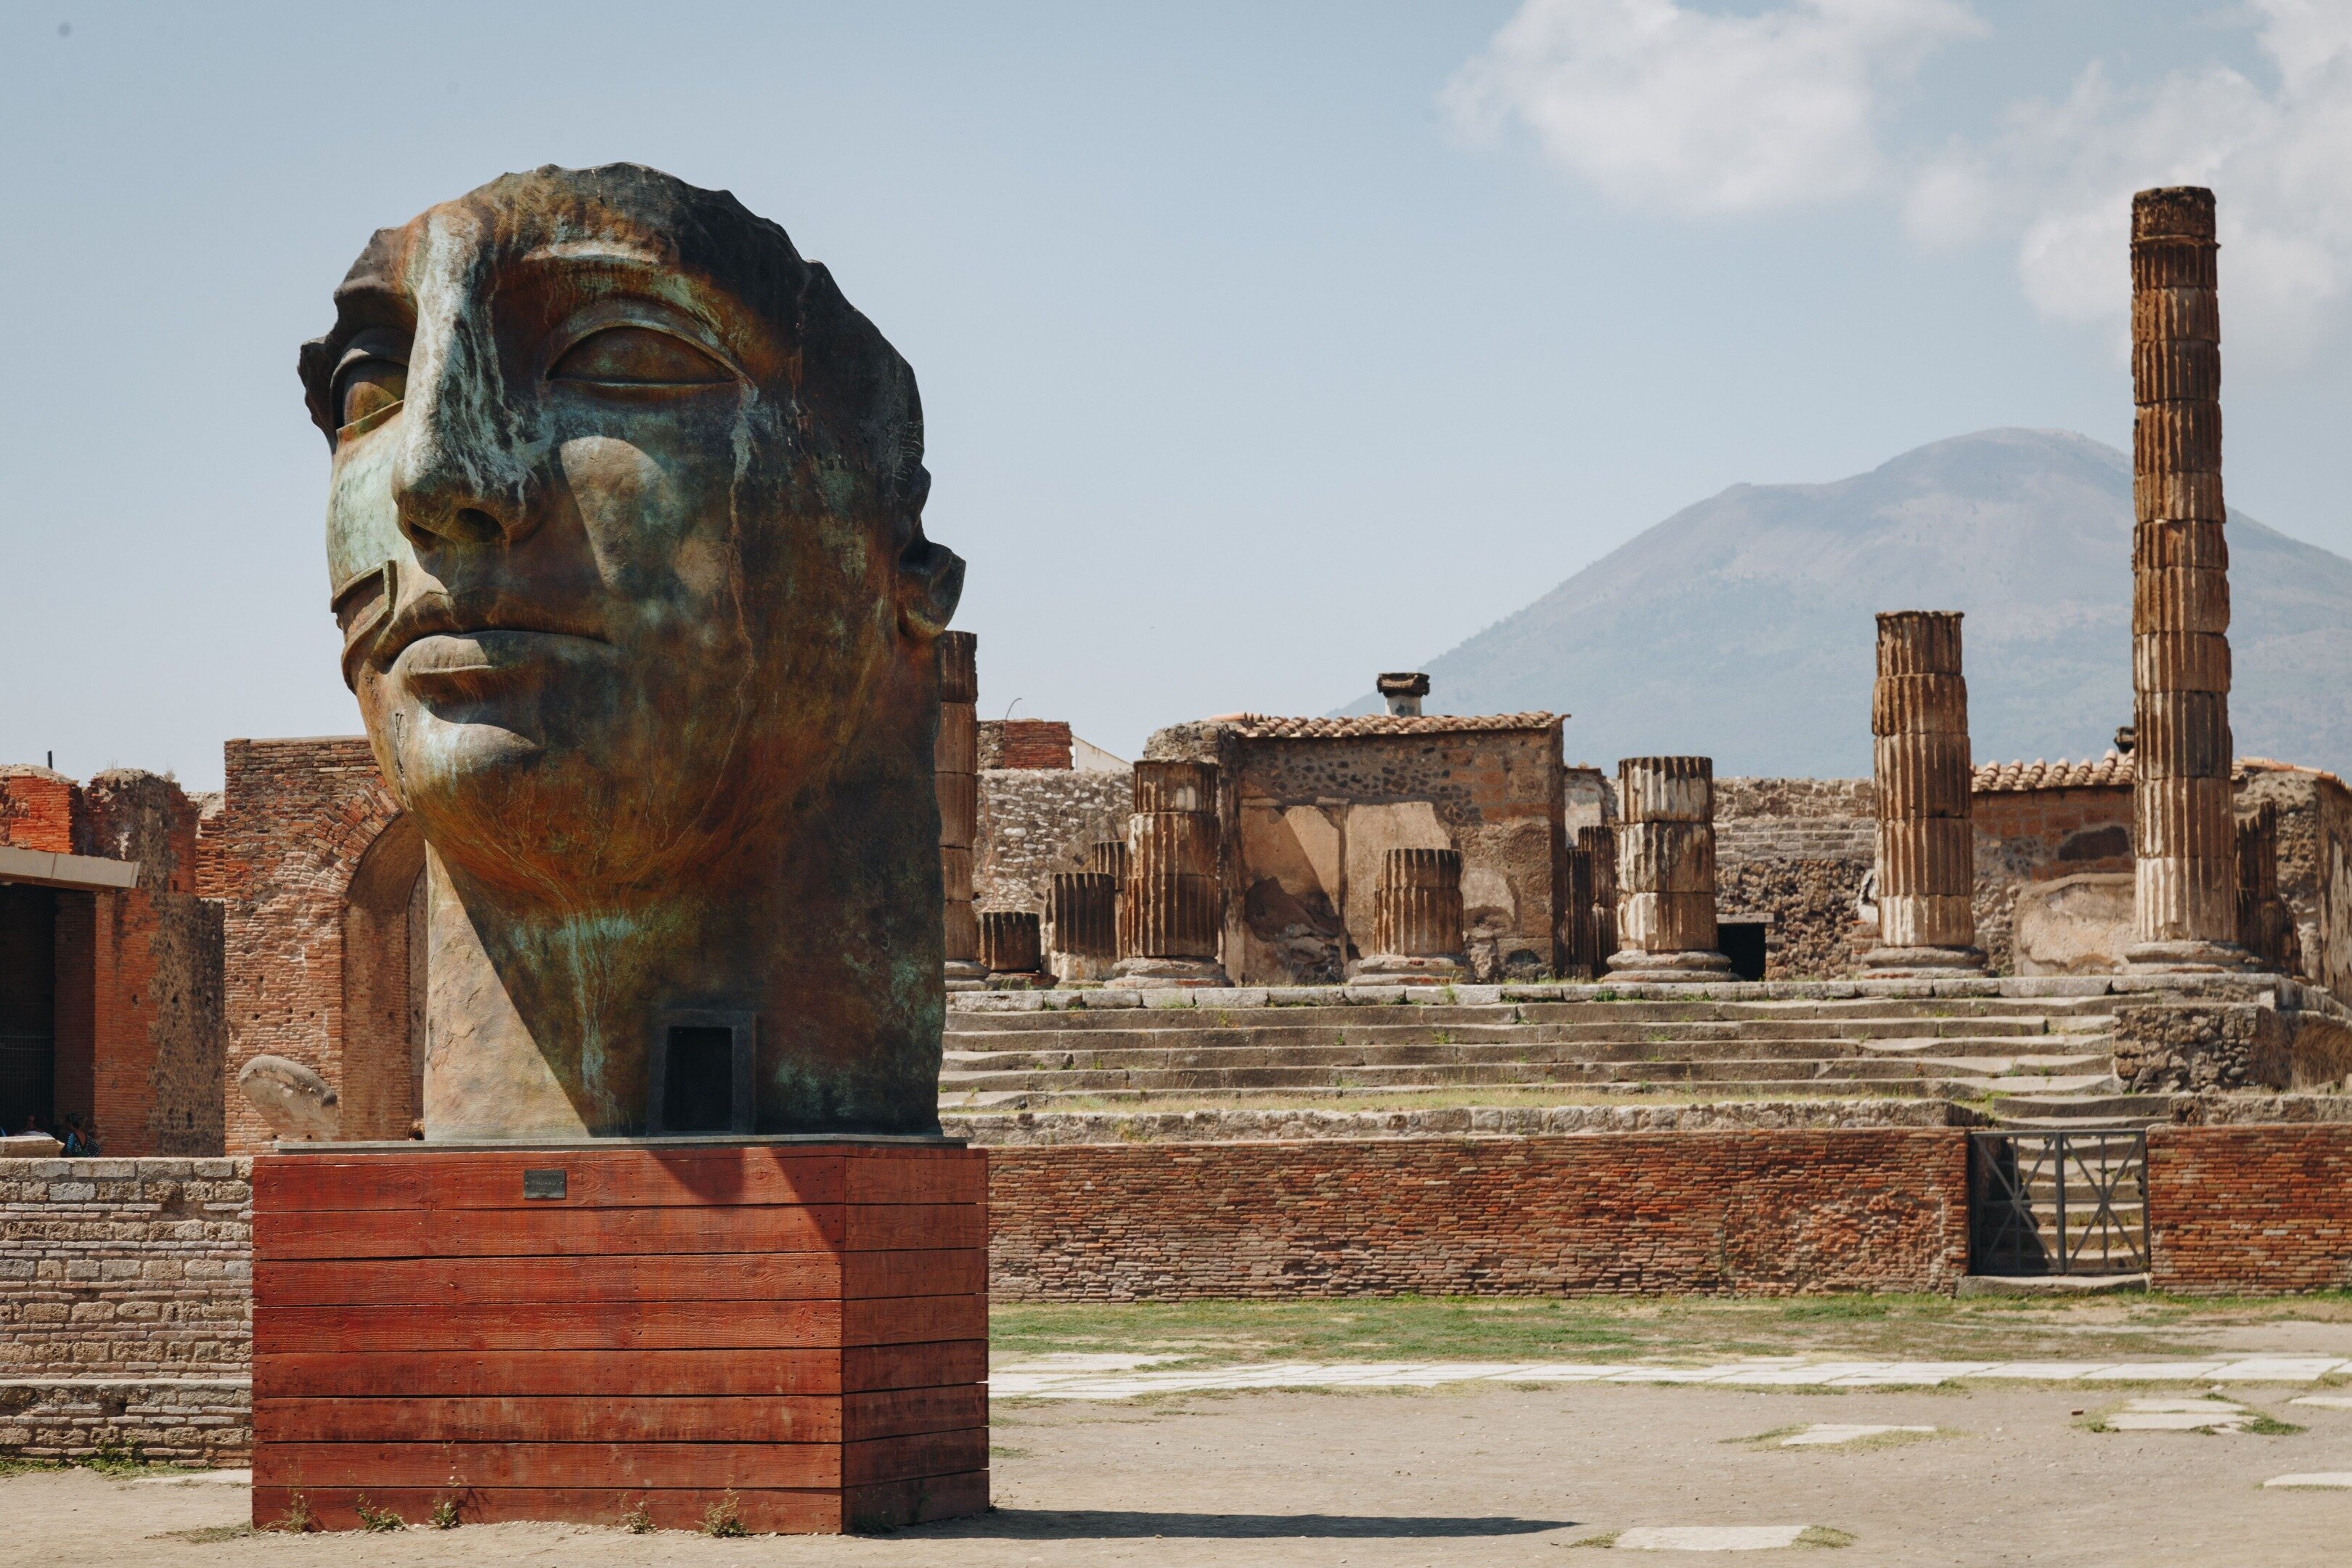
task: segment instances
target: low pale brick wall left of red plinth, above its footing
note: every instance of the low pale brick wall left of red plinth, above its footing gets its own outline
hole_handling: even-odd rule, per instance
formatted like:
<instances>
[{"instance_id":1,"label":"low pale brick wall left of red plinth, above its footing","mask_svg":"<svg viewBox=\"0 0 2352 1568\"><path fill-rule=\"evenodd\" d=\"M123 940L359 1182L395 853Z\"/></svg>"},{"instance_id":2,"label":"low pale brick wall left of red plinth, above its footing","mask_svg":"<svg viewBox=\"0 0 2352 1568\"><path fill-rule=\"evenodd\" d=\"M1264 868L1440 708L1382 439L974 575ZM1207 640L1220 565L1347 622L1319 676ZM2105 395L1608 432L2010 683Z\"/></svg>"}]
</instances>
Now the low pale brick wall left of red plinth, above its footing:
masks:
<instances>
[{"instance_id":1,"label":"low pale brick wall left of red plinth, above its footing","mask_svg":"<svg viewBox=\"0 0 2352 1568\"><path fill-rule=\"evenodd\" d=\"M242 1159L0 1159L0 1378L245 1373Z\"/></svg>"}]
</instances>

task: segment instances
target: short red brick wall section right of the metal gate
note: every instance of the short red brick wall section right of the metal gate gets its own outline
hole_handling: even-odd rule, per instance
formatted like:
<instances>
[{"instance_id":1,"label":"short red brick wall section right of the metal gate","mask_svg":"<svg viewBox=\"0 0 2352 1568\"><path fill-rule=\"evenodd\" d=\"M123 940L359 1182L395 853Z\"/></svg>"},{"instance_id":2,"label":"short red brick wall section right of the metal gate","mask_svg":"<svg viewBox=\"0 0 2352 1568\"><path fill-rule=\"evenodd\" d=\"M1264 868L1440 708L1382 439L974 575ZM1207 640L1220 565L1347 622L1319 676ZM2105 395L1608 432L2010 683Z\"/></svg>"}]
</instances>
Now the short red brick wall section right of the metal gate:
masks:
<instances>
[{"instance_id":1,"label":"short red brick wall section right of the metal gate","mask_svg":"<svg viewBox=\"0 0 2352 1568\"><path fill-rule=\"evenodd\" d=\"M2352 1288L2352 1126L2159 1126L2147 1215L2159 1291Z\"/></svg>"}]
</instances>

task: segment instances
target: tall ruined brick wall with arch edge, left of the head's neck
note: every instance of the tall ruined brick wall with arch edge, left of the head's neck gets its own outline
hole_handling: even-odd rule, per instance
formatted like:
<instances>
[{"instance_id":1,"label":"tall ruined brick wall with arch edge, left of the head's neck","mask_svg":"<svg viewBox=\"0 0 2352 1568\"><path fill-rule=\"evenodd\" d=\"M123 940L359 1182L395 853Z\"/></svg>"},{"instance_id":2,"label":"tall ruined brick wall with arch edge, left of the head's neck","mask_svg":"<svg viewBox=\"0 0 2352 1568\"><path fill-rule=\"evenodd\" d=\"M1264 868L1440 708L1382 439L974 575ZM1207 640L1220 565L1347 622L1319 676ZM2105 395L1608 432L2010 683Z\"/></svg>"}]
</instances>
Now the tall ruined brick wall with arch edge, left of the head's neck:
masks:
<instances>
[{"instance_id":1,"label":"tall ruined brick wall with arch edge, left of the head's neck","mask_svg":"<svg viewBox=\"0 0 2352 1568\"><path fill-rule=\"evenodd\" d=\"M360 736L230 741L223 762L226 802L207 839L226 898L226 1121L240 1154L273 1135L233 1088L249 1058L285 1056L343 1084L346 896L397 806ZM393 929L381 922L386 940Z\"/></svg>"}]
</instances>

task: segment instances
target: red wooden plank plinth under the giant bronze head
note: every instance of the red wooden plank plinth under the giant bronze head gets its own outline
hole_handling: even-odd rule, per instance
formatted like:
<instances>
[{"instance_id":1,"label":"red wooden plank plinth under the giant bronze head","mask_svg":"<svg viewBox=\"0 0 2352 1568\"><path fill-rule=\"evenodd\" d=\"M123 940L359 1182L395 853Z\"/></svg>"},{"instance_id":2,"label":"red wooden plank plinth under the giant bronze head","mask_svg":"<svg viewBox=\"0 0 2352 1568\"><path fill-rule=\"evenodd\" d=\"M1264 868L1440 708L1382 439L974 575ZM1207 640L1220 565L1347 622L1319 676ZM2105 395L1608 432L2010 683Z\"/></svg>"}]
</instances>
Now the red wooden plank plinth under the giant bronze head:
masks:
<instances>
[{"instance_id":1,"label":"red wooden plank plinth under the giant bronze head","mask_svg":"<svg viewBox=\"0 0 2352 1568\"><path fill-rule=\"evenodd\" d=\"M562 1197L524 1197L553 1187ZM254 1161L254 1523L856 1530L988 1507L988 1157ZM296 1493L301 1509L296 1509Z\"/></svg>"}]
</instances>

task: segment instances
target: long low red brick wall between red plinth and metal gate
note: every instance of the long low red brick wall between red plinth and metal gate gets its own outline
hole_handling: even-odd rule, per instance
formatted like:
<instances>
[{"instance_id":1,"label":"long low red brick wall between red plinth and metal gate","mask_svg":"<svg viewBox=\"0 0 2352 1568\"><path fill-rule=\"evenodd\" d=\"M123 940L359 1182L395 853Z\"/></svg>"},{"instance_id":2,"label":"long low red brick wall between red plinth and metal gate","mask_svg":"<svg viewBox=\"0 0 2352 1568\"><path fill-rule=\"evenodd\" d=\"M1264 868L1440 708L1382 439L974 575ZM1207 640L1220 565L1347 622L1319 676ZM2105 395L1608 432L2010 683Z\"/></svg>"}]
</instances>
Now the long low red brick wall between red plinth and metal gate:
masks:
<instances>
[{"instance_id":1,"label":"long low red brick wall between red plinth and metal gate","mask_svg":"<svg viewBox=\"0 0 2352 1568\"><path fill-rule=\"evenodd\" d=\"M997 1300L1947 1291L1945 1128L990 1150Z\"/></svg>"}]
</instances>

